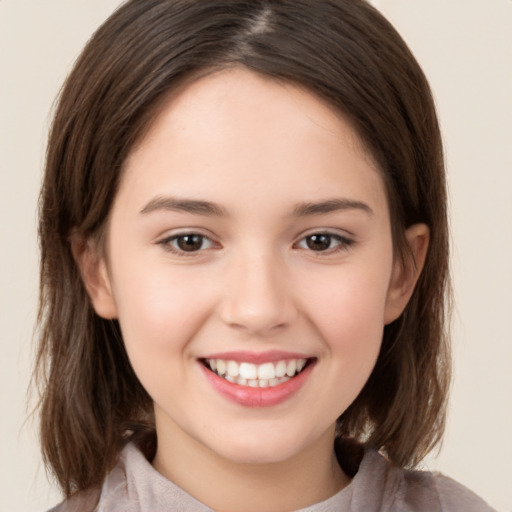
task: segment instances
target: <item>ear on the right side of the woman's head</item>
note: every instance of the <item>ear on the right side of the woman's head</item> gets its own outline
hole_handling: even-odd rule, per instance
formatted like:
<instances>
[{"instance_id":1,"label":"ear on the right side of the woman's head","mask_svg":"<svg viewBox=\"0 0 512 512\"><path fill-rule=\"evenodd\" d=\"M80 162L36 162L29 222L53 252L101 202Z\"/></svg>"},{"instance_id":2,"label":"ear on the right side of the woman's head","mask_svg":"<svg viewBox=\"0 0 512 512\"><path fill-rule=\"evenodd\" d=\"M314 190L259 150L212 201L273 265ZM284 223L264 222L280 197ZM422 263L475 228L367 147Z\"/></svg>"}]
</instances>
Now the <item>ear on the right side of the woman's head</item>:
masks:
<instances>
[{"instance_id":1,"label":"ear on the right side of the woman's head","mask_svg":"<svg viewBox=\"0 0 512 512\"><path fill-rule=\"evenodd\" d=\"M430 230L426 224L414 224L405 231L409 251L404 261L397 258L389 283L384 324L390 324L404 311L420 277L427 256Z\"/></svg>"}]
</instances>

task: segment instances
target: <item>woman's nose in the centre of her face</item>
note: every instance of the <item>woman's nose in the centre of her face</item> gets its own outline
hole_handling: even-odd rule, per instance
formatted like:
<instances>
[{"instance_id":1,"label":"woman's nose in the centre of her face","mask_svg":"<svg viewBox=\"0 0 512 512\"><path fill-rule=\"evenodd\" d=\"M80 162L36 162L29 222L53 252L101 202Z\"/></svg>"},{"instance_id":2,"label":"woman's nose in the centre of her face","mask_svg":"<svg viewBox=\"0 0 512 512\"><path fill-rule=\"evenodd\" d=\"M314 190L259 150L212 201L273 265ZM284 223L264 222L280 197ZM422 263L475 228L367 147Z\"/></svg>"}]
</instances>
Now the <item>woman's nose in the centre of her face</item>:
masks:
<instances>
[{"instance_id":1,"label":"woman's nose in the centre of her face","mask_svg":"<svg viewBox=\"0 0 512 512\"><path fill-rule=\"evenodd\" d=\"M293 283L286 264L272 253L240 257L229 265L220 306L231 328L259 337L272 336L297 316Z\"/></svg>"}]
</instances>

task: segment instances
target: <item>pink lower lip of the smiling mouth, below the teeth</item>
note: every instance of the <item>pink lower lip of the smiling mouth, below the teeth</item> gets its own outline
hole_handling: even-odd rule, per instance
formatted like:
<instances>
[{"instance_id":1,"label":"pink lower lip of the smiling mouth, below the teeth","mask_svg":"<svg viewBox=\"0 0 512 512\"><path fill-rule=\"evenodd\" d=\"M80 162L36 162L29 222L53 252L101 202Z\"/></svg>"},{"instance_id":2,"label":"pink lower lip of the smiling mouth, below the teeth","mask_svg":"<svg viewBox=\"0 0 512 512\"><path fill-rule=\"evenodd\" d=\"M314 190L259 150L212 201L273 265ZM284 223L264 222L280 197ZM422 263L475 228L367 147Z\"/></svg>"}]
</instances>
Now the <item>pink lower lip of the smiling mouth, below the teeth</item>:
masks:
<instances>
[{"instance_id":1,"label":"pink lower lip of the smiling mouth, below the teeth","mask_svg":"<svg viewBox=\"0 0 512 512\"><path fill-rule=\"evenodd\" d=\"M285 402L297 393L311 375L314 363L310 363L302 372L290 380L266 388L252 388L234 384L208 370L203 364L199 363L199 365L212 387L228 400L245 407L270 407Z\"/></svg>"}]
</instances>

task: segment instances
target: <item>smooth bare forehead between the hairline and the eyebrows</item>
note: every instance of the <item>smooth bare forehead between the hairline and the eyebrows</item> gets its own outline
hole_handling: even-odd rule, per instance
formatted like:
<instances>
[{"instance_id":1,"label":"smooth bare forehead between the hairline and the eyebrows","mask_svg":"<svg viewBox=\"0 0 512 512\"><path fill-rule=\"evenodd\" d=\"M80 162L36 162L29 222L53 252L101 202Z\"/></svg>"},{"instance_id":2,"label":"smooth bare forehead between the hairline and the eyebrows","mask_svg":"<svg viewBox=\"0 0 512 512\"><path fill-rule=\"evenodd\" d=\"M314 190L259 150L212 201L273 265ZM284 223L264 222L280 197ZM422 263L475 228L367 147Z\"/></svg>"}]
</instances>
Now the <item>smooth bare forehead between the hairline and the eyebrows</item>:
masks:
<instances>
[{"instance_id":1,"label":"smooth bare forehead between the hairline and the eyebrows","mask_svg":"<svg viewBox=\"0 0 512 512\"><path fill-rule=\"evenodd\" d=\"M333 195L334 185L344 196L360 194L361 185L383 194L350 124L303 88L237 68L167 98L127 159L121 192L161 188L223 202L280 189L315 201Z\"/></svg>"}]
</instances>

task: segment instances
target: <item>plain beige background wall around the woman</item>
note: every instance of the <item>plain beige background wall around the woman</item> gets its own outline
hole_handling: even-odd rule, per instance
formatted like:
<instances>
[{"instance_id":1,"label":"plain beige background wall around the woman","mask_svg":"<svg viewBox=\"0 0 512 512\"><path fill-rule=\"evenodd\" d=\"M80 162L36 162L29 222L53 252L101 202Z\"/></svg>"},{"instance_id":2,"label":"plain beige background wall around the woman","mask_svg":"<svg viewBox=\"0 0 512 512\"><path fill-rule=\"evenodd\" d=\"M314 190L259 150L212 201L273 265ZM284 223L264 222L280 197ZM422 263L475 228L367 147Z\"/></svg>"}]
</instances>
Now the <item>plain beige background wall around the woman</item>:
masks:
<instances>
[{"instance_id":1,"label":"plain beige background wall around the woman","mask_svg":"<svg viewBox=\"0 0 512 512\"><path fill-rule=\"evenodd\" d=\"M447 148L455 380L428 466L512 511L512 1L376 0L431 80ZM52 101L119 0L0 0L0 511L44 510L25 392L37 299L36 201Z\"/></svg>"}]
</instances>

